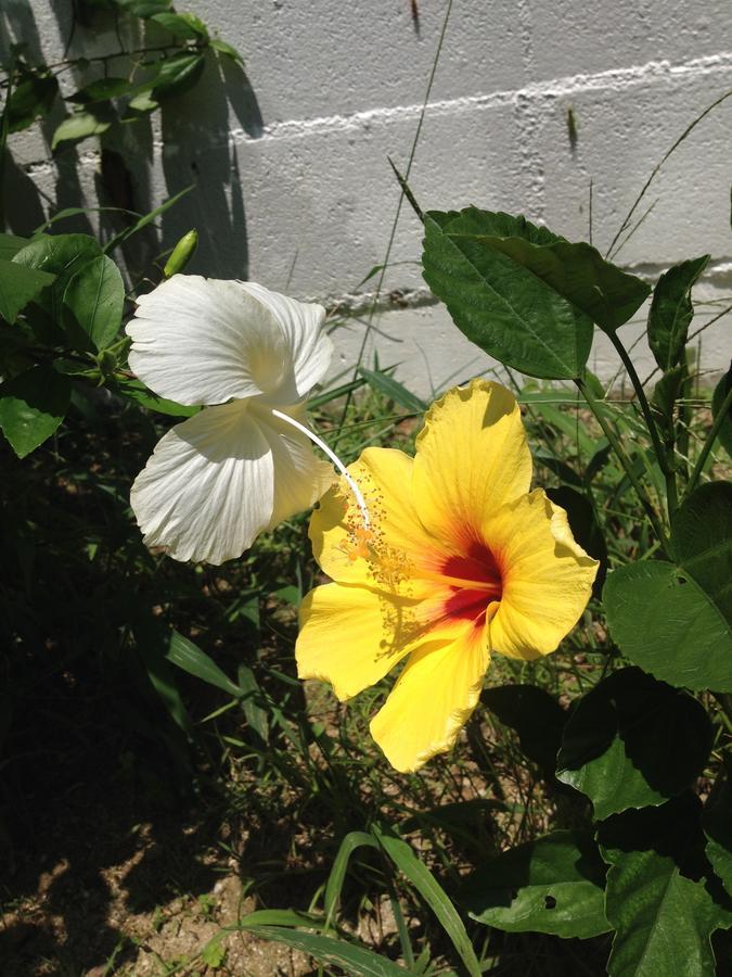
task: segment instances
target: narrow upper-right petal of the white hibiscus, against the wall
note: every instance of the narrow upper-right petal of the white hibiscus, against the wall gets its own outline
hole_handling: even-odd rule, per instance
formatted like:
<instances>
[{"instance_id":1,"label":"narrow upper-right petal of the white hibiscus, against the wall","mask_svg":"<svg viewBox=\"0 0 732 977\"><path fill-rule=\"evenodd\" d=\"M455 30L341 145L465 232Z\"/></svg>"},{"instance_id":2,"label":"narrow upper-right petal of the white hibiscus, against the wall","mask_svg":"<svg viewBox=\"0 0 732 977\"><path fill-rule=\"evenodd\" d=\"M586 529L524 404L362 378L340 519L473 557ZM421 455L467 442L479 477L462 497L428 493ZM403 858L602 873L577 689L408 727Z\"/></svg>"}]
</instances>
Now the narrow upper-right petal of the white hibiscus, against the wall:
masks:
<instances>
[{"instance_id":1,"label":"narrow upper-right petal of the white hibiscus, against the wall","mask_svg":"<svg viewBox=\"0 0 732 977\"><path fill-rule=\"evenodd\" d=\"M279 292L270 292L254 281L243 281L241 286L266 305L280 323L293 363L297 395L290 403L295 403L323 379L331 364L333 344L321 331L325 309L312 302L298 302Z\"/></svg>"}]
</instances>

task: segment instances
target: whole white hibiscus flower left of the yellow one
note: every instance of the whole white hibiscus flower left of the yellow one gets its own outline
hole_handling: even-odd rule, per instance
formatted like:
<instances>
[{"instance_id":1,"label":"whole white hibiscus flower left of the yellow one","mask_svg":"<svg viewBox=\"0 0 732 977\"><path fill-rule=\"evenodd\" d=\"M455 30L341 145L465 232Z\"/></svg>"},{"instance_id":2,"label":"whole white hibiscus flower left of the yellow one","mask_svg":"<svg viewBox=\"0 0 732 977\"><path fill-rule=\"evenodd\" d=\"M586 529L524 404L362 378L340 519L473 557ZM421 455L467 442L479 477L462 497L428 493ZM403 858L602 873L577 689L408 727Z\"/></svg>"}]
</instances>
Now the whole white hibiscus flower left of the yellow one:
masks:
<instances>
[{"instance_id":1,"label":"whole white hibiscus flower left of the yellow one","mask_svg":"<svg viewBox=\"0 0 732 977\"><path fill-rule=\"evenodd\" d=\"M197 275L140 297L127 326L131 369L159 396L206 407L160 439L134 481L147 546L221 563L334 482L308 439L330 451L303 424L331 360L324 317L254 282Z\"/></svg>"}]
</instances>

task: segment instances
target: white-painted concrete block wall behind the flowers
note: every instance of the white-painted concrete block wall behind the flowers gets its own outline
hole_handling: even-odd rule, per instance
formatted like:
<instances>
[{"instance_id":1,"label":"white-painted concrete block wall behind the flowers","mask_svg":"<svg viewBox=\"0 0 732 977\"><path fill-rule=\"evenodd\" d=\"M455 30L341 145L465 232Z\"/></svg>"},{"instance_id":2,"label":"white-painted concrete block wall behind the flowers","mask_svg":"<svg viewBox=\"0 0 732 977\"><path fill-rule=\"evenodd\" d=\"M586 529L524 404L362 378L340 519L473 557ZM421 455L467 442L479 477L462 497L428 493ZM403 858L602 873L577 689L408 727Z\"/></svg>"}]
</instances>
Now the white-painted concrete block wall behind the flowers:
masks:
<instances>
[{"instance_id":1,"label":"white-painted concrete block wall behind the flowers","mask_svg":"<svg viewBox=\"0 0 732 977\"><path fill-rule=\"evenodd\" d=\"M385 255L399 199L387 156L404 168L446 10L441 0L416 5L419 25L411 0L179 3L242 51L246 75L211 59L194 91L126 129L117 149L138 210L197 180L163 218L150 253L197 226L195 270L333 302L351 295ZM31 52L59 60L70 3L3 0L0 24L0 46L22 37ZM115 45L111 31L77 29L70 53ZM64 84L76 87L72 77ZM730 89L729 0L454 0L410 182L424 207L524 213L574 240L589 234L592 182L592 238L605 249L655 163ZM98 147L87 141L52 157L57 120L12 138L18 231L42 218L34 188L64 206L98 203ZM711 252L704 294L720 301L732 292L731 123L732 99L664 166L645 201L652 213L618 255L655 280L669 264ZM369 343L429 393L463 358L466 375L485 358L428 303L420 239L406 207L391 253L400 264L385 281L387 294L402 297L382 304ZM336 333L344 363L362 328L355 319ZM705 369L724 367L728 337L724 319L704 334ZM593 357L602 376L615 372L602 343Z\"/></svg>"}]
</instances>

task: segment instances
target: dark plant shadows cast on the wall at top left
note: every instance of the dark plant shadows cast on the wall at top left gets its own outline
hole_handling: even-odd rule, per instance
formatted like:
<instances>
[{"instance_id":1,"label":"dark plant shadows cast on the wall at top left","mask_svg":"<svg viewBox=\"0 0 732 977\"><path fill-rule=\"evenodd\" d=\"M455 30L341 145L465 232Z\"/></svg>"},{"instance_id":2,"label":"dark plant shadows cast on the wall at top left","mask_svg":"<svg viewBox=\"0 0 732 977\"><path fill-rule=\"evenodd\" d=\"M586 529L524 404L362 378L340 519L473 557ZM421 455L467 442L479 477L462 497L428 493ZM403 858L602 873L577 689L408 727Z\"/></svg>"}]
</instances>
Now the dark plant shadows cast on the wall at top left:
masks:
<instances>
[{"instance_id":1,"label":"dark plant shadows cast on the wall at top left","mask_svg":"<svg viewBox=\"0 0 732 977\"><path fill-rule=\"evenodd\" d=\"M27 0L3 3L0 65L7 72L16 43L24 45L29 64L53 64L56 71L59 63L67 60L108 54L123 46L134 50L159 43L155 25L141 28L144 22L124 16L115 21L112 14L97 13L91 29L80 22L76 8L69 0L51 0L47 27L37 13L39 4L34 9ZM49 50L47 38L53 33L53 20L61 41ZM130 69L129 58L105 64L112 76ZM89 80L89 71L82 77L74 66L64 67L59 75L65 96ZM221 278L247 277L244 187L230 145L230 119L233 115L254 138L261 135L264 124L256 94L239 64L217 58L209 49L194 88L167 98L152 115L113 125L91 151L89 140L78 149L62 143L51 153L52 135L64 118L63 106L62 99L56 99L46 118L9 137L4 166L0 167L7 230L27 236L62 210L85 207L86 214L62 218L54 230L94 233L98 229L100 237L108 240L137 218L119 212L98 213L98 208L146 214L191 187L155 224L124 246L130 277L137 280L149 272L151 263L191 228L200 237L191 270Z\"/></svg>"}]
</instances>

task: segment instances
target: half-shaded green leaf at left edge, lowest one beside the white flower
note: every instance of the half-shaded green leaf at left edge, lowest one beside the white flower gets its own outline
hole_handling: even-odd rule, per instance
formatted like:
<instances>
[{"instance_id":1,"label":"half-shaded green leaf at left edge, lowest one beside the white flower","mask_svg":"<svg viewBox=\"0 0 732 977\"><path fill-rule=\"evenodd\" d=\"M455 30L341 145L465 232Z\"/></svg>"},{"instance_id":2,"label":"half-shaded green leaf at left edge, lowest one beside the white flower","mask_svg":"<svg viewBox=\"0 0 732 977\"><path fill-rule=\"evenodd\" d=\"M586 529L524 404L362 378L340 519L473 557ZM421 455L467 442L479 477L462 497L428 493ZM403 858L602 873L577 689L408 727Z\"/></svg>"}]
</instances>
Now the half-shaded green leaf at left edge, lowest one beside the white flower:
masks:
<instances>
[{"instance_id":1,"label":"half-shaded green leaf at left edge, lowest one beside the white flower","mask_svg":"<svg viewBox=\"0 0 732 977\"><path fill-rule=\"evenodd\" d=\"M18 458L53 434L66 416L70 396L68 378L46 365L0 384L0 428Z\"/></svg>"}]
</instances>

